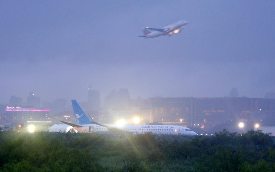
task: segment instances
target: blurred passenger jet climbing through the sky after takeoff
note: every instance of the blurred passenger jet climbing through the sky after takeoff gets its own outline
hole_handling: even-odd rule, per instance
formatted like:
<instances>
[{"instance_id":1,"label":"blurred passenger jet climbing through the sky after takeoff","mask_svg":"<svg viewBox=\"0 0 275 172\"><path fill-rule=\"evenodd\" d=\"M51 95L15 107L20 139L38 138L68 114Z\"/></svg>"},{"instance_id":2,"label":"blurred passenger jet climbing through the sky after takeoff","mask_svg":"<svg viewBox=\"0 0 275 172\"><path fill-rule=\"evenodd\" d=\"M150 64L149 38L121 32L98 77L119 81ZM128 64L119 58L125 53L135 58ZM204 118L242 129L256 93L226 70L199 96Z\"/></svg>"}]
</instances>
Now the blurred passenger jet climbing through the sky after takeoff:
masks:
<instances>
[{"instance_id":1,"label":"blurred passenger jet climbing through the sky after takeoff","mask_svg":"<svg viewBox=\"0 0 275 172\"><path fill-rule=\"evenodd\" d=\"M182 30L186 24L187 24L187 21L181 20L176 23L165 26L164 28L145 28L142 30L144 35L142 35L140 37L155 38L155 37L158 37L161 35L171 36L171 34L180 33L180 30ZM152 31L150 31L150 30L152 30Z\"/></svg>"}]
</instances>

